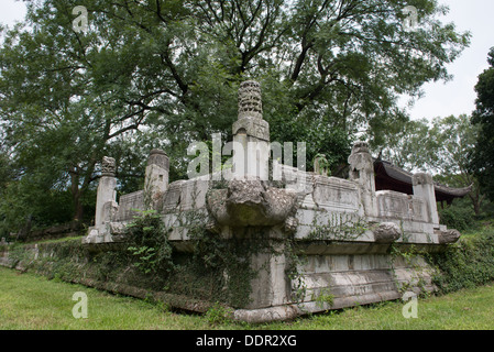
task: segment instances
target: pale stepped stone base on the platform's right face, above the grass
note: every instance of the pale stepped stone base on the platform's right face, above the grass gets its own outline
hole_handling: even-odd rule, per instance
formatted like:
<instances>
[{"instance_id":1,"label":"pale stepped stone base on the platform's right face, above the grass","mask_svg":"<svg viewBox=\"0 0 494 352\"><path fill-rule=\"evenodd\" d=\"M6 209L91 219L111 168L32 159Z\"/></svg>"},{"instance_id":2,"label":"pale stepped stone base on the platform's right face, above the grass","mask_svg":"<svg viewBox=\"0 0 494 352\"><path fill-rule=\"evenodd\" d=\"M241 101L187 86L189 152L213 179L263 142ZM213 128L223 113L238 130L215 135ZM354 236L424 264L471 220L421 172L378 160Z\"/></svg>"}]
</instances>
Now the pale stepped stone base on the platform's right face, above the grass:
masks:
<instances>
[{"instance_id":1,"label":"pale stepped stone base on the platform's right face, above the grass","mask_svg":"<svg viewBox=\"0 0 494 352\"><path fill-rule=\"evenodd\" d=\"M433 290L430 267L421 257L407 263L389 254L309 255L300 272L307 288L303 301L310 311L375 302L382 297L398 299L403 287L415 293ZM332 296L332 302L317 307L317 298L325 294Z\"/></svg>"}]
</instances>

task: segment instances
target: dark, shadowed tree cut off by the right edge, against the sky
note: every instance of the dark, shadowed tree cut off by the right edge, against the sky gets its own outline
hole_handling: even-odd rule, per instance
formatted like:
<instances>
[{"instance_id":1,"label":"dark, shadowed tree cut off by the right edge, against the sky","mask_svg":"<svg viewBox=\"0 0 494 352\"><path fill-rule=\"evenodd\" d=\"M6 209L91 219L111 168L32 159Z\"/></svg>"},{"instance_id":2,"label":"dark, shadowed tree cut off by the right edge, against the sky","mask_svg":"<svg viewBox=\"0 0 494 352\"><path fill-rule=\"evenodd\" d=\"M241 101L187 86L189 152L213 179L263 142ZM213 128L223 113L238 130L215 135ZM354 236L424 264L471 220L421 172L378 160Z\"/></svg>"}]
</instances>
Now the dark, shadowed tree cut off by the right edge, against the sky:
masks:
<instances>
[{"instance_id":1,"label":"dark, shadowed tree cut off by the right edge, against the sky","mask_svg":"<svg viewBox=\"0 0 494 352\"><path fill-rule=\"evenodd\" d=\"M472 123L480 127L472 166L479 175L484 191L494 200L494 47L487 57L491 65L480 76L475 86L476 109Z\"/></svg>"}]
</instances>

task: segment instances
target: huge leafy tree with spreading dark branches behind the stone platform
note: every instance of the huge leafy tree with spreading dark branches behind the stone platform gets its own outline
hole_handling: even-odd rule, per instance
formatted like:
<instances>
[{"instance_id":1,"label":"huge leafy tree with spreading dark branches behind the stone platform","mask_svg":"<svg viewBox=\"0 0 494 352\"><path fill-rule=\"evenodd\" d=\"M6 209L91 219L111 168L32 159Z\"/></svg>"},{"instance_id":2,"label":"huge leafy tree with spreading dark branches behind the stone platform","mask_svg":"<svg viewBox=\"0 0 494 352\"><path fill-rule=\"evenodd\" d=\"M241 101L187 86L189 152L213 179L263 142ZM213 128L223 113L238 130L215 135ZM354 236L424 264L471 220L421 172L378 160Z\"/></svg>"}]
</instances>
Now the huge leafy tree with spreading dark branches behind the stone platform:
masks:
<instances>
[{"instance_id":1,"label":"huge leafy tree with spreading dark branches behind the stone platform","mask_svg":"<svg viewBox=\"0 0 494 352\"><path fill-rule=\"evenodd\" d=\"M129 154L123 140L153 141L184 176L190 141L229 136L248 77L261 80L272 140L338 162L355 132L377 143L406 120L397 95L448 78L469 42L437 19L447 9L435 0L26 2L26 26L0 50L0 121L23 177L69 187L77 219L97 162ZM404 26L410 4L415 31ZM73 25L76 6L87 32Z\"/></svg>"}]
</instances>

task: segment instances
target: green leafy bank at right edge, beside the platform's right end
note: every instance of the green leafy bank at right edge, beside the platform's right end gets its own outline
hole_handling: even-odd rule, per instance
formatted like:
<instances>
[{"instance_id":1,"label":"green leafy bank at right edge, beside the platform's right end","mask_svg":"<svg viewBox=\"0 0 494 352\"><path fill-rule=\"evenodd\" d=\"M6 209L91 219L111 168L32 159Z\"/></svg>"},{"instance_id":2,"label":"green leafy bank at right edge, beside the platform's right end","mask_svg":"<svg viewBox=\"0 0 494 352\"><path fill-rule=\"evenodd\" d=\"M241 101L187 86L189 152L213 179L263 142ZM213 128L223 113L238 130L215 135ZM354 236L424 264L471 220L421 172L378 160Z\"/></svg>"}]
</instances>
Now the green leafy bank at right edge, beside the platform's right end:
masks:
<instances>
[{"instance_id":1,"label":"green leafy bank at right edge, beside the platform's right end","mask_svg":"<svg viewBox=\"0 0 494 352\"><path fill-rule=\"evenodd\" d=\"M461 238L444 253L430 256L439 270L433 282L442 293L472 288L494 280L494 233L484 230Z\"/></svg>"}]
</instances>

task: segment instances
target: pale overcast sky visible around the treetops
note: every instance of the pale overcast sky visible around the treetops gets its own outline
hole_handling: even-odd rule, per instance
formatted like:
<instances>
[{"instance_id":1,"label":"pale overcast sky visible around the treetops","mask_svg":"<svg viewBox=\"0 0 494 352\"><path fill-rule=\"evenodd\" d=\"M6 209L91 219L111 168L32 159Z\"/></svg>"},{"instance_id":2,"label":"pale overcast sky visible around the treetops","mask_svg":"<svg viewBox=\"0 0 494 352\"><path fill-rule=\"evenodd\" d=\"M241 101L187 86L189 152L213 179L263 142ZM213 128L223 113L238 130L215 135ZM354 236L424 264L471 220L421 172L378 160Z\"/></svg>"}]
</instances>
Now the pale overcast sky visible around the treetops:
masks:
<instances>
[{"instance_id":1,"label":"pale overcast sky visible around the treetops","mask_svg":"<svg viewBox=\"0 0 494 352\"><path fill-rule=\"evenodd\" d=\"M472 34L470 47L448 66L453 79L424 86L425 96L408 109L413 119L432 119L461 113L470 114L474 109L477 76L488 67L487 53L494 46L494 0L439 0L450 8L442 22L454 22L460 32ZM1 0L0 23L12 25L24 18L25 6L19 0ZM408 99L402 99L405 107Z\"/></svg>"}]
</instances>

